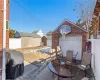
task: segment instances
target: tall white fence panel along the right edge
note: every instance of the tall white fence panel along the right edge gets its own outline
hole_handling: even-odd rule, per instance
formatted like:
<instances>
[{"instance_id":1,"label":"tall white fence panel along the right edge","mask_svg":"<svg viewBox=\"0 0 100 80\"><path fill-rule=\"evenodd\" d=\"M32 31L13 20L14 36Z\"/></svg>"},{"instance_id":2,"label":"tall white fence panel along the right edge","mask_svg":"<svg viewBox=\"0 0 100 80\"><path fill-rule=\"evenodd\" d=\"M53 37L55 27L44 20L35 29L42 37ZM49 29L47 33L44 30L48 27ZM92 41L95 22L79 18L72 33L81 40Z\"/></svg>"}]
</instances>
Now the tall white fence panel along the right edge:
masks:
<instances>
[{"instance_id":1,"label":"tall white fence panel along the right edge","mask_svg":"<svg viewBox=\"0 0 100 80\"><path fill-rule=\"evenodd\" d=\"M96 80L100 80L100 39L92 39L92 68Z\"/></svg>"}]
</instances>

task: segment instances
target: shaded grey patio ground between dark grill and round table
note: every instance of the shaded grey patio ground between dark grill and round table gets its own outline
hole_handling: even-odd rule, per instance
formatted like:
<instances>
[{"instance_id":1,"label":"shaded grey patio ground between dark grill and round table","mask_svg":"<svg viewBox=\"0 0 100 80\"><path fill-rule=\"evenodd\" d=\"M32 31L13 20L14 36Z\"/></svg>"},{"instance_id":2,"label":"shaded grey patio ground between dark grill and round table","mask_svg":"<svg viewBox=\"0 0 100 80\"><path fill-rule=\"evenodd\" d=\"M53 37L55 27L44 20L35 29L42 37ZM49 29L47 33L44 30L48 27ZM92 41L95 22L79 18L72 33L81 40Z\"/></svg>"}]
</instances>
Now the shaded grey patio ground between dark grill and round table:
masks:
<instances>
[{"instance_id":1,"label":"shaded grey patio ground between dark grill and round table","mask_svg":"<svg viewBox=\"0 0 100 80\"><path fill-rule=\"evenodd\" d=\"M89 73L92 73L92 70L88 70ZM25 66L25 71L23 76L20 76L16 80L55 80L57 77L56 75L53 77L53 73L50 72L47 65L41 65L41 67L38 67L33 64L29 64ZM73 80L81 80L84 77L84 73L80 72L78 76L73 78ZM62 79L63 80L63 79ZM71 80L71 79L64 79L64 80ZM90 80L94 80L93 78Z\"/></svg>"}]
</instances>

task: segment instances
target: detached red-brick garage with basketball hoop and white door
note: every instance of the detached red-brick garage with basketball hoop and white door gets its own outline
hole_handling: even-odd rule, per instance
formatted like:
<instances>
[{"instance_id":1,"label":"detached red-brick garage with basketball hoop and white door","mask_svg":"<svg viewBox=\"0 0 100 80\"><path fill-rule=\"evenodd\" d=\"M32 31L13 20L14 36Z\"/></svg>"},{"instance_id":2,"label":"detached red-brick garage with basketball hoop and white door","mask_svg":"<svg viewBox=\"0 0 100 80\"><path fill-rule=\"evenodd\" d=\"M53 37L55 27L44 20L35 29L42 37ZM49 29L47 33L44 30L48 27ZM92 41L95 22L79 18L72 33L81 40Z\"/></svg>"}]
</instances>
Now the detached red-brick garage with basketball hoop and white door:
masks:
<instances>
[{"instance_id":1,"label":"detached red-brick garage with basketball hoop and white door","mask_svg":"<svg viewBox=\"0 0 100 80\"><path fill-rule=\"evenodd\" d=\"M73 50L73 55L77 55L80 60L86 48L86 30L76 24L64 20L52 33L52 48L61 47L63 56L68 50Z\"/></svg>"}]
</instances>

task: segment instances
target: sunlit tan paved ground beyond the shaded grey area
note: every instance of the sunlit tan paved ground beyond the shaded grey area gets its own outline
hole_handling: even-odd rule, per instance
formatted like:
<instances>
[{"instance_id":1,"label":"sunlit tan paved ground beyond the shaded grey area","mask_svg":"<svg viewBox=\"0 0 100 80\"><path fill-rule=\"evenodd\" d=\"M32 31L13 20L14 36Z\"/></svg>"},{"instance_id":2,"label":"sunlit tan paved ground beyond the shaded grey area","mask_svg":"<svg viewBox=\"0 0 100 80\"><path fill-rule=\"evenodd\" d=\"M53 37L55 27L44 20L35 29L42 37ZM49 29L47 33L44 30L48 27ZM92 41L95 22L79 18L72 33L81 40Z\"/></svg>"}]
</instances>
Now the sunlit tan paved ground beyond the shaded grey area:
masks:
<instances>
[{"instance_id":1,"label":"sunlit tan paved ground beyond the shaded grey area","mask_svg":"<svg viewBox=\"0 0 100 80\"><path fill-rule=\"evenodd\" d=\"M45 47L42 47L45 48ZM41 47L28 47L17 49L17 51L21 52L24 55L24 65L40 63L43 60L50 59L50 55L47 53L41 52L32 52L33 50L41 49Z\"/></svg>"}]
</instances>

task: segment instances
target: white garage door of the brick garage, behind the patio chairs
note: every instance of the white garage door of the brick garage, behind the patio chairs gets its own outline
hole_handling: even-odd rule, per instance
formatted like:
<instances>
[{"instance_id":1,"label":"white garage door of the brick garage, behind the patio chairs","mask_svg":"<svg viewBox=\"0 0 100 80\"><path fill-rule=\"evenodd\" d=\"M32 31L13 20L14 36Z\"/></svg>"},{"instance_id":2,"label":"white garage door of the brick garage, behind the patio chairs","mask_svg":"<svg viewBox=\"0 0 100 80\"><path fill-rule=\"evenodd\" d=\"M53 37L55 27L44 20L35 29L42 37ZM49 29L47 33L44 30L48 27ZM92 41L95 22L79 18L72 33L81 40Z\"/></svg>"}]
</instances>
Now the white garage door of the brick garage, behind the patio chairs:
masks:
<instances>
[{"instance_id":1,"label":"white garage door of the brick garage, behind the patio chairs","mask_svg":"<svg viewBox=\"0 0 100 80\"><path fill-rule=\"evenodd\" d=\"M82 55L82 36L59 38L59 46L61 46L63 55L66 56L67 50L73 50L73 55L77 55L77 59L81 59Z\"/></svg>"}]
</instances>

